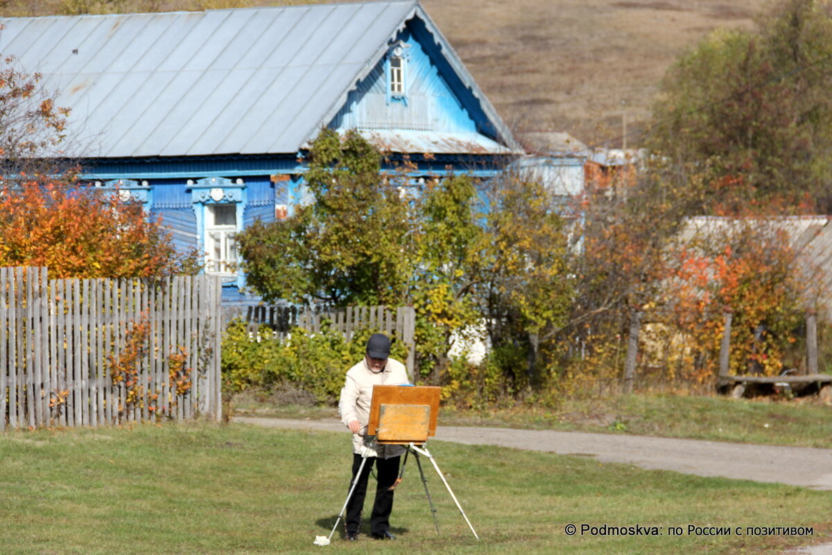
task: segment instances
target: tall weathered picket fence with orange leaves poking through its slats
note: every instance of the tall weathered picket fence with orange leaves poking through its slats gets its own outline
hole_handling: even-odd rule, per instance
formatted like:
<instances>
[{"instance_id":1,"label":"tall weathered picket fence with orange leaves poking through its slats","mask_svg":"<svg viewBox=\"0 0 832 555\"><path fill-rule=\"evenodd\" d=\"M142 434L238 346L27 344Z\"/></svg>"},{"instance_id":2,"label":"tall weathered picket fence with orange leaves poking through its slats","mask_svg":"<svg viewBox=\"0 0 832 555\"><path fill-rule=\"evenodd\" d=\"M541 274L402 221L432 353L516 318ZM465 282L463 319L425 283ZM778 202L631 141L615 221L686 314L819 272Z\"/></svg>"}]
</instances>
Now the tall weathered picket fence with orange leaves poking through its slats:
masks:
<instances>
[{"instance_id":1,"label":"tall weathered picket fence with orange leaves poking through its slats","mask_svg":"<svg viewBox=\"0 0 832 555\"><path fill-rule=\"evenodd\" d=\"M219 278L0 268L0 430L220 420Z\"/></svg>"}]
</instances>

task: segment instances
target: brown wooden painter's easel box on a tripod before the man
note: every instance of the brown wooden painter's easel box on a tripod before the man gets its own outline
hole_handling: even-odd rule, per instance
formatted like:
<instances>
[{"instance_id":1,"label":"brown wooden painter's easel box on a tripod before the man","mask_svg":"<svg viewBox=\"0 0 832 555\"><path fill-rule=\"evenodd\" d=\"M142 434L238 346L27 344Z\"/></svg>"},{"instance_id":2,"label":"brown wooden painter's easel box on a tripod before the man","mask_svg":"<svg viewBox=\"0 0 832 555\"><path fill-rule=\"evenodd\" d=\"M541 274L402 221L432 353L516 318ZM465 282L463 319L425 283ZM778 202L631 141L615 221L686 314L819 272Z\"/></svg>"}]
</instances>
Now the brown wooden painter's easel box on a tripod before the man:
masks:
<instances>
[{"instance_id":1,"label":"brown wooden painter's easel box on a tripod before the man","mask_svg":"<svg viewBox=\"0 0 832 555\"><path fill-rule=\"evenodd\" d=\"M453 503L456 503L459 513L462 513L468 528L471 528L474 538L479 539L468 520L462 505L453 494L448 480L436 464L436 459L430 454L425 443L428 437L436 435L436 422L439 414L439 393L441 388L433 386L373 386L373 399L370 402L369 424L367 433L378 444L404 445L406 452L399 471L399 479L390 489L394 489L404 476L404 466L408 462L408 455L413 453L418 465L418 471L424 485L424 493L428 498L428 505L433 516L433 526L439 533L439 523L436 518L436 508L428 491L428 479L424 477L422 462L419 455L427 457L439 478L442 479Z\"/></svg>"}]
</instances>

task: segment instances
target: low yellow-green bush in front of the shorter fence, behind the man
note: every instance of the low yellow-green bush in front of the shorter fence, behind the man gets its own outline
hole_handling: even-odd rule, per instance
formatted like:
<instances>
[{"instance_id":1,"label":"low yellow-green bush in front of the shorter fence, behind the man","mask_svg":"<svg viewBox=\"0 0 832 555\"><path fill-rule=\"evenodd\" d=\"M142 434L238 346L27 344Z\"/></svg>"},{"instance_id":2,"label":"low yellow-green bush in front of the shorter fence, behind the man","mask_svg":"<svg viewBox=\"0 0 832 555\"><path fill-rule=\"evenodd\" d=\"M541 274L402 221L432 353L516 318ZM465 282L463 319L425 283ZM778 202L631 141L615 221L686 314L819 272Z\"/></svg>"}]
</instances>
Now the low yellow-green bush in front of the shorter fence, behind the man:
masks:
<instances>
[{"instance_id":1,"label":"low yellow-green bush in front of the shorter fence, behind the man","mask_svg":"<svg viewBox=\"0 0 832 555\"><path fill-rule=\"evenodd\" d=\"M354 332L350 341L324 324L318 333L293 328L289 335L275 339L269 327L260 327L255 337L245 323L231 322L222 341L222 376L226 391L237 393L252 387L278 389L284 386L305 390L319 403L335 403L344 376L364 357L369 336L375 331ZM390 356L407 357L407 348L393 339Z\"/></svg>"}]
</instances>

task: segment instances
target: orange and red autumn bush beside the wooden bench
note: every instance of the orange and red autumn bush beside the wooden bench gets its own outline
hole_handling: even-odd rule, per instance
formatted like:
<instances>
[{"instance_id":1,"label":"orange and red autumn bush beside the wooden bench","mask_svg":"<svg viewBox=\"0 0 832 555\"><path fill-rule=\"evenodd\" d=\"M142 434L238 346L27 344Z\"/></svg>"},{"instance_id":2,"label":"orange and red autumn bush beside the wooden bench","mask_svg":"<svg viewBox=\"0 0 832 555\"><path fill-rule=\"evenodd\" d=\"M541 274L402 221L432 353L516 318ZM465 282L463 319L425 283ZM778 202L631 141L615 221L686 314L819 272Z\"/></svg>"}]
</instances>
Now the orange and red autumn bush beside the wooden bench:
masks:
<instances>
[{"instance_id":1,"label":"orange and red autumn bush beside the wooden bench","mask_svg":"<svg viewBox=\"0 0 832 555\"><path fill-rule=\"evenodd\" d=\"M800 327L805 284L788 238L744 231L710 249L681 248L671 263L666 322L685 336L678 367L696 381L716 375L725 311L733 314L731 374L780 373Z\"/></svg>"}]
</instances>

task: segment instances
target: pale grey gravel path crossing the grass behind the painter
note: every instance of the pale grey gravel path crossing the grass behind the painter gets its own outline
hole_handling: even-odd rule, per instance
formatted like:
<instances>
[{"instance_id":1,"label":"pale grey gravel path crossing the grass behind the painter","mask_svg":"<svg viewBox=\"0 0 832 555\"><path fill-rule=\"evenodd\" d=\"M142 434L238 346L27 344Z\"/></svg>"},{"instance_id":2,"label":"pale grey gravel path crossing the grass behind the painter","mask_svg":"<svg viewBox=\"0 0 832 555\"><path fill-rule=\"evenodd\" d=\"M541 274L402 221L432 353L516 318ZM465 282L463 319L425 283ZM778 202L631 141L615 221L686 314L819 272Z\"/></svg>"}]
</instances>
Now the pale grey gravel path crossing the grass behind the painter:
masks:
<instances>
[{"instance_id":1,"label":"pale grey gravel path crossing the grass behind the painter","mask_svg":"<svg viewBox=\"0 0 832 555\"><path fill-rule=\"evenodd\" d=\"M344 425L334 419L235 416L233 420L270 428L346 431ZM699 476L749 479L832 491L832 449L468 426L439 426L435 439L546 453L590 455L602 462L635 464L642 469L674 470ZM832 543L792 549L783 555L832 555Z\"/></svg>"}]
</instances>

